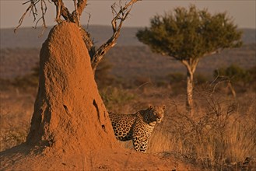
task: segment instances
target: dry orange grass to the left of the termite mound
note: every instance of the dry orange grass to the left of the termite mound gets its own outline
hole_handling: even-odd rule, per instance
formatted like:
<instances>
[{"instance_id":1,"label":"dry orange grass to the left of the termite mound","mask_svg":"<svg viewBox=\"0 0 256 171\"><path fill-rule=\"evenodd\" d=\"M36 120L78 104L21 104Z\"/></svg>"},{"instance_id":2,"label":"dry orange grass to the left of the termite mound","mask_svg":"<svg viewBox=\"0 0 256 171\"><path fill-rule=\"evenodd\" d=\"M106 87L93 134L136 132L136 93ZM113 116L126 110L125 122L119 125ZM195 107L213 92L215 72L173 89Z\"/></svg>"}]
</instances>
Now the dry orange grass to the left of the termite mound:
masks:
<instances>
[{"instance_id":1,"label":"dry orange grass to the left of the termite mound","mask_svg":"<svg viewBox=\"0 0 256 171\"><path fill-rule=\"evenodd\" d=\"M26 140L34 95L19 89L0 91L0 152Z\"/></svg>"}]
</instances>

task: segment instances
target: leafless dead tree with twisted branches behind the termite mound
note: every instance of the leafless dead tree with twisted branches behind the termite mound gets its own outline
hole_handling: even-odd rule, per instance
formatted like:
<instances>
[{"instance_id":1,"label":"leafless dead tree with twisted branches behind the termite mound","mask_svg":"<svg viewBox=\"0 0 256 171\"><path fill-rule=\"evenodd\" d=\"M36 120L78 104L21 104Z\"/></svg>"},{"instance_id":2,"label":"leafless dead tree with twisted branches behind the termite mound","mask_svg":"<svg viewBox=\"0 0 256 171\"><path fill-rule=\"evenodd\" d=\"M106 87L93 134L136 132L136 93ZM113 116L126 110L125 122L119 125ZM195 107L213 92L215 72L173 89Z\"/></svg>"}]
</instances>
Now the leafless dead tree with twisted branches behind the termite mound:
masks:
<instances>
[{"instance_id":1,"label":"leafless dead tree with twisted branches behind the termite mound","mask_svg":"<svg viewBox=\"0 0 256 171\"><path fill-rule=\"evenodd\" d=\"M48 0L49 1L49 0ZM112 13L114 18L111 21L113 34L112 36L107 40L106 43L102 44L99 48L96 48L93 44L93 40L90 37L89 33L82 29L80 25L80 16L82 15L83 10L86 8L87 0L72 0L74 2L75 10L73 12L69 12L68 8L65 7L65 4L63 0L51 0L51 2L54 2L54 5L56 6L56 22L61 23L63 19L68 22L76 23L81 28L81 33L83 40L86 44L86 47L89 51L89 56L91 58L91 65L93 68L93 72L95 73L96 67L99 65L100 61L102 61L105 54L107 54L107 51L110 50L110 48L114 47L114 45L117 42L117 38L120 35L121 26L124 23L124 20L127 19L129 13L132 10L132 5L135 4L135 2L138 2L140 0L131 0L130 2L126 3L124 6L121 5L121 1L119 3L114 3L111 5ZM16 27L14 32L16 33L16 30L19 28L19 26L22 25L23 19L25 18L27 12L30 12L33 14L34 22L37 24L42 21L43 30L42 33L44 33L44 30L47 28L46 22L44 19L44 16L47 12L47 2L46 0L29 0L27 2L24 2L24 4L30 2L30 5L26 9L26 12L24 12L23 16L19 19L19 25ZM49 1L50 2L50 1ZM40 10L37 10L37 5L40 6ZM37 16L40 15L39 18Z\"/></svg>"}]
</instances>

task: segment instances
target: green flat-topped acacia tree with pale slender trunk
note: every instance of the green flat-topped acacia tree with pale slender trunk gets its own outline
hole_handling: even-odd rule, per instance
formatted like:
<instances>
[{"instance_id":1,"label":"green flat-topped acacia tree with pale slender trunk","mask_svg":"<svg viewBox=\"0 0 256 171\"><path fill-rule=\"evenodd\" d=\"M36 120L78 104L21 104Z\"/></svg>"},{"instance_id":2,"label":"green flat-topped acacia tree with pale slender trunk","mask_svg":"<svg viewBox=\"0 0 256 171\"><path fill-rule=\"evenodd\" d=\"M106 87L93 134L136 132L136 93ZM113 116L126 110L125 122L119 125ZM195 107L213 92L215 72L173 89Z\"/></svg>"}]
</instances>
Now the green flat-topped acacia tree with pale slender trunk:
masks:
<instances>
[{"instance_id":1,"label":"green flat-topped acacia tree with pale slender trunk","mask_svg":"<svg viewBox=\"0 0 256 171\"><path fill-rule=\"evenodd\" d=\"M187 69L187 109L193 113L193 75L200 59L223 50L240 47L241 32L226 12L210 14L207 9L176 8L150 20L150 27L139 30L139 41L153 52L169 56ZM209 64L210 65L210 64Z\"/></svg>"}]
</instances>

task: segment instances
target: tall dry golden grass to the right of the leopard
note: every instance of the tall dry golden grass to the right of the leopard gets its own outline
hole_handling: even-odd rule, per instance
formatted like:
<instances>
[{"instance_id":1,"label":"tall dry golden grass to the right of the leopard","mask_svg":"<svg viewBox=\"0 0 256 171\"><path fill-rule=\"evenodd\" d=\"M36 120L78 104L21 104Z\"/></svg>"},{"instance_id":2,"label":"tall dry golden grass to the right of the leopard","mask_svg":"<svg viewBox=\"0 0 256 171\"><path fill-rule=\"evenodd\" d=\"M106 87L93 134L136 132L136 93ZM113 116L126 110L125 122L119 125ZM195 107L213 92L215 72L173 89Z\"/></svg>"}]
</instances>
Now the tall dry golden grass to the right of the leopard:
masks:
<instances>
[{"instance_id":1,"label":"tall dry golden grass to the right of the leopard","mask_svg":"<svg viewBox=\"0 0 256 171\"><path fill-rule=\"evenodd\" d=\"M180 100L172 100L170 113L150 139L149 152L179 154L205 169L241 168L244 159L256 159L255 95L241 99L247 103L201 92L194 117L184 112Z\"/></svg>"}]
</instances>

